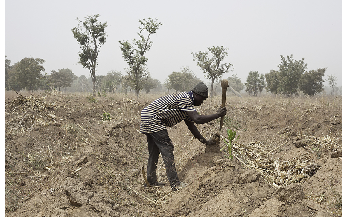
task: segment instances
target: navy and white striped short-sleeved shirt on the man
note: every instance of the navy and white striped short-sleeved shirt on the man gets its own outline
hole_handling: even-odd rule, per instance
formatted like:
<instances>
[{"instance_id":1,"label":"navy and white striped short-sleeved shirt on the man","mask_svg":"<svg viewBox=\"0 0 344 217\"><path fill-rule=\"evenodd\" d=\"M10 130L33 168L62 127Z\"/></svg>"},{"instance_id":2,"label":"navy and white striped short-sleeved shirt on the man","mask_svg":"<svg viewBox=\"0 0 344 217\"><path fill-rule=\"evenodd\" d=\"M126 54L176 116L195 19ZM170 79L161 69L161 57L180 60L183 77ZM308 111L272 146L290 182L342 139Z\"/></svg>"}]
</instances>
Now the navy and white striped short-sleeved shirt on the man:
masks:
<instances>
[{"instance_id":1,"label":"navy and white striped short-sleeved shirt on the man","mask_svg":"<svg viewBox=\"0 0 344 217\"><path fill-rule=\"evenodd\" d=\"M186 111L197 111L191 91L162 96L142 110L140 133L158 132L184 119L192 121Z\"/></svg>"}]
</instances>

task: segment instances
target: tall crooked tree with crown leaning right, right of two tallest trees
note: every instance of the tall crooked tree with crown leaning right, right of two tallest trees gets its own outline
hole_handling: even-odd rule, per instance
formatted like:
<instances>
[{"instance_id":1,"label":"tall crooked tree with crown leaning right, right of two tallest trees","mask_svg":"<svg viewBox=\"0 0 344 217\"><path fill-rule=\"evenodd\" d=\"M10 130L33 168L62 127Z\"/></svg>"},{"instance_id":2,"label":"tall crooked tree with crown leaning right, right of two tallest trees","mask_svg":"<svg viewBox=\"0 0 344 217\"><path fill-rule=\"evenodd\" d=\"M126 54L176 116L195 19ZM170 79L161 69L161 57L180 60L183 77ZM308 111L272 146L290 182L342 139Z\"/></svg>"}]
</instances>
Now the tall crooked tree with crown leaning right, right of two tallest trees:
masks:
<instances>
[{"instance_id":1,"label":"tall crooked tree with crown leaning right, right of two tallest trees","mask_svg":"<svg viewBox=\"0 0 344 217\"><path fill-rule=\"evenodd\" d=\"M147 20L143 19L142 21L139 20L139 23L141 26L139 27L140 32L138 32L138 35L141 39L132 40L132 44L137 46L137 48L133 48L133 45L128 41L119 41L122 56L129 64L129 69L127 69L128 76L126 78L130 86L135 90L138 98L140 97L140 90L143 88L143 83L149 76L148 70L144 67L148 61L144 54L146 54L153 43L150 41L150 36L155 34L160 25L162 25L162 23L158 23L158 18L155 21L152 18L148 18ZM141 34L141 32L145 31L148 33L147 38Z\"/></svg>"}]
</instances>

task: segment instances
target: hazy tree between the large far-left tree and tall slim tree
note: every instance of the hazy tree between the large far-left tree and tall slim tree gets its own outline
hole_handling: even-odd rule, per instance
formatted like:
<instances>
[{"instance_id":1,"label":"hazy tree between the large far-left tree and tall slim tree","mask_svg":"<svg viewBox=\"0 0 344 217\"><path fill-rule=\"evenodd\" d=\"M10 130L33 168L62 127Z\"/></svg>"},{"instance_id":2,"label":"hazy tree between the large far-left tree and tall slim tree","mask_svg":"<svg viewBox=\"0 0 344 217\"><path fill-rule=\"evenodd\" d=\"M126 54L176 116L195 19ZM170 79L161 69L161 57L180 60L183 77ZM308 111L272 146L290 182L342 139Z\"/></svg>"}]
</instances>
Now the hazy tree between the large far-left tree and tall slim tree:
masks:
<instances>
[{"instance_id":1,"label":"hazy tree between the large far-left tree and tall slim tree","mask_svg":"<svg viewBox=\"0 0 344 217\"><path fill-rule=\"evenodd\" d=\"M78 77L72 72L72 70L66 69L59 69L57 72L55 70L51 70L50 80L51 85L56 88L58 87L58 91L61 91L60 87L70 87L74 80Z\"/></svg>"}]
</instances>

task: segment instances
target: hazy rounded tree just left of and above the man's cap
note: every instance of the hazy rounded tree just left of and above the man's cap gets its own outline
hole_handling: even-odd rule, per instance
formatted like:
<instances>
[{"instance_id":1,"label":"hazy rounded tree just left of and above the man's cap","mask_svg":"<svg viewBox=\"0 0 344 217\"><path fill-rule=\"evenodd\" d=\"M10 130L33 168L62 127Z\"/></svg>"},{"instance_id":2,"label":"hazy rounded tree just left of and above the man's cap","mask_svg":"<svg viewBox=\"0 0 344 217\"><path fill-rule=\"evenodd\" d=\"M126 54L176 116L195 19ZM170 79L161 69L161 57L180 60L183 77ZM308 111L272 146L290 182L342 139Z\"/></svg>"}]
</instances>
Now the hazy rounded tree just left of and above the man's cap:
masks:
<instances>
[{"instance_id":1,"label":"hazy rounded tree just left of and above the man's cap","mask_svg":"<svg viewBox=\"0 0 344 217\"><path fill-rule=\"evenodd\" d=\"M176 92L189 92L198 82L201 82L201 80L187 66L180 72L172 72L169 74L169 84Z\"/></svg>"}]
</instances>

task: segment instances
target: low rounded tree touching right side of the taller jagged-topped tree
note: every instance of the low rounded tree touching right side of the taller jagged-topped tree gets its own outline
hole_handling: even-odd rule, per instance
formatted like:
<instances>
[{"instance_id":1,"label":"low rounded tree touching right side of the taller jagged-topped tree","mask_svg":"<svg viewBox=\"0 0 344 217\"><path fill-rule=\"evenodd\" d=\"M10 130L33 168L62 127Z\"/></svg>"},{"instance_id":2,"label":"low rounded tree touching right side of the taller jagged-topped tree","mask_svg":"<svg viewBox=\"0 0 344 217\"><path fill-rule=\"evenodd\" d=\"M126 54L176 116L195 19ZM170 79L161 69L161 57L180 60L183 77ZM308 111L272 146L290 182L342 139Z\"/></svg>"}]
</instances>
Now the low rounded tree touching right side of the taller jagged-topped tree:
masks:
<instances>
[{"instance_id":1,"label":"low rounded tree touching right side of the taller jagged-topped tree","mask_svg":"<svg viewBox=\"0 0 344 217\"><path fill-rule=\"evenodd\" d=\"M301 75L300 90L309 96L314 96L324 90L324 80L326 68L310 70Z\"/></svg>"}]
</instances>

